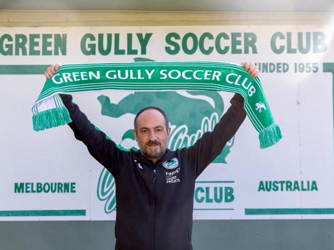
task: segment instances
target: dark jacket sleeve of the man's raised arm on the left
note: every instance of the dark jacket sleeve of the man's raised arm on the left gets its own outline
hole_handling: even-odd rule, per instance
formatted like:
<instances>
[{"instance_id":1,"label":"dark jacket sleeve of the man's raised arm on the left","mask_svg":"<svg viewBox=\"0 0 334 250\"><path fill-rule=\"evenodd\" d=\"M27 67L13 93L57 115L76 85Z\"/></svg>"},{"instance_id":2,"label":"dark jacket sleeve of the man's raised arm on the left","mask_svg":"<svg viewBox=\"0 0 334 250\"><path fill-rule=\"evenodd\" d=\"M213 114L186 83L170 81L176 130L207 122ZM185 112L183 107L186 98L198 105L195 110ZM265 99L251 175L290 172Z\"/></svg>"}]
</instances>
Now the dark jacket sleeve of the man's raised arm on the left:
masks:
<instances>
[{"instance_id":1,"label":"dark jacket sleeve of the man's raised arm on the left","mask_svg":"<svg viewBox=\"0 0 334 250\"><path fill-rule=\"evenodd\" d=\"M115 177L122 165L126 151L120 150L116 143L106 134L90 123L77 104L72 102L72 96L60 94L65 107L68 109L72 122L69 127L73 130L75 138L82 141L88 148L92 157L106 167Z\"/></svg>"}]
</instances>

